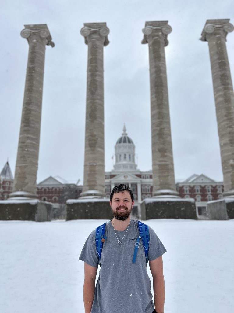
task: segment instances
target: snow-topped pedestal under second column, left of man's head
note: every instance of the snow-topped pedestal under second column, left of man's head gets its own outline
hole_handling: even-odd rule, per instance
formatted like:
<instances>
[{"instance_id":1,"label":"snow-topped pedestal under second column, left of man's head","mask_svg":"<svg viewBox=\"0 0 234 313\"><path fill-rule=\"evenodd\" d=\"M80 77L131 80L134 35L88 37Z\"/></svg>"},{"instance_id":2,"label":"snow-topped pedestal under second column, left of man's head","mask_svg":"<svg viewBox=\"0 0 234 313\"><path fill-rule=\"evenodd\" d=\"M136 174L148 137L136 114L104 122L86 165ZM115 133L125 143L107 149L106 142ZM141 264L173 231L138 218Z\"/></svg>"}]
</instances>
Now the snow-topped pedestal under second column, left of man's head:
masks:
<instances>
[{"instance_id":1,"label":"snow-topped pedestal under second column, left of man's head","mask_svg":"<svg viewBox=\"0 0 234 313\"><path fill-rule=\"evenodd\" d=\"M112 219L110 199L67 200L67 218L72 219Z\"/></svg>"}]
</instances>

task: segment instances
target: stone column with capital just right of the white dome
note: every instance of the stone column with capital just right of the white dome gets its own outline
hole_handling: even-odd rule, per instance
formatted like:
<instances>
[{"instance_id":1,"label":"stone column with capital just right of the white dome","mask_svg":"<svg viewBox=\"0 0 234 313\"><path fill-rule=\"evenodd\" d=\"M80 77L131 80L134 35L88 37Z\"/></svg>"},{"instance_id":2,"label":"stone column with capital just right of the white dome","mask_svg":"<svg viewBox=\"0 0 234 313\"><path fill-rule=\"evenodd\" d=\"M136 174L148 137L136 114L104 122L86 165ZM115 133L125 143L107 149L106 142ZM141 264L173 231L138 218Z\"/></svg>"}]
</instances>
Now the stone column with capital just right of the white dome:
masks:
<instances>
[{"instance_id":1,"label":"stone column with capital just right of the white dome","mask_svg":"<svg viewBox=\"0 0 234 313\"><path fill-rule=\"evenodd\" d=\"M172 28L167 21L145 22L142 44L149 44L153 196L178 197L175 187L164 47Z\"/></svg>"}]
</instances>

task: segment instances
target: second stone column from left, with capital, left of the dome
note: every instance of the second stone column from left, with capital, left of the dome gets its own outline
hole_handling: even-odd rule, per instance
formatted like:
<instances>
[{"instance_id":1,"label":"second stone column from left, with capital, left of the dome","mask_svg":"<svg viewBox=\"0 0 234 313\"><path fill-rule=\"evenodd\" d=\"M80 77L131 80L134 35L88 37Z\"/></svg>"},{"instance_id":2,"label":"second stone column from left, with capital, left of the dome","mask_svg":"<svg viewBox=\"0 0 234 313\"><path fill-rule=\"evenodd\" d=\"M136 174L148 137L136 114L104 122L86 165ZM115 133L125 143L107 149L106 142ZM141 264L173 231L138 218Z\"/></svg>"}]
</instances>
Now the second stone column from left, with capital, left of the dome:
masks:
<instances>
[{"instance_id":1,"label":"second stone column from left, with capital, left of the dome","mask_svg":"<svg viewBox=\"0 0 234 313\"><path fill-rule=\"evenodd\" d=\"M88 45L84 183L81 197L105 196L103 47L109 44L106 23L84 23Z\"/></svg>"}]
</instances>

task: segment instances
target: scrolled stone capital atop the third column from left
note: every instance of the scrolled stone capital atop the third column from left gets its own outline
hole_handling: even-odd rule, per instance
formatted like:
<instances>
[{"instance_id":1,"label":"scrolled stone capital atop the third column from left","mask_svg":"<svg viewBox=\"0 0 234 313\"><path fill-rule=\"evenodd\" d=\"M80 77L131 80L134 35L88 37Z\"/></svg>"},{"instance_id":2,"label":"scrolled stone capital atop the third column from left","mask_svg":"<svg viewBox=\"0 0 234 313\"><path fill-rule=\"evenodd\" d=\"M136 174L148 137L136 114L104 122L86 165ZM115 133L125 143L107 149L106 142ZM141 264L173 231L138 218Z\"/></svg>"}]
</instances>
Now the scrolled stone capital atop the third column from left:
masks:
<instances>
[{"instance_id":1,"label":"scrolled stone capital atop the third column from left","mask_svg":"<svg viewBox=\"0 0 234 313\"><path fill-rule=\"evenodd\" d=\"M167 35L171 33L172 28L168 25L168 21L145 22L145 27L142 29L144 38L142 44L149 44L154 38L163 40L164 46L168 45Z\"/></svg>"}]
</instances>

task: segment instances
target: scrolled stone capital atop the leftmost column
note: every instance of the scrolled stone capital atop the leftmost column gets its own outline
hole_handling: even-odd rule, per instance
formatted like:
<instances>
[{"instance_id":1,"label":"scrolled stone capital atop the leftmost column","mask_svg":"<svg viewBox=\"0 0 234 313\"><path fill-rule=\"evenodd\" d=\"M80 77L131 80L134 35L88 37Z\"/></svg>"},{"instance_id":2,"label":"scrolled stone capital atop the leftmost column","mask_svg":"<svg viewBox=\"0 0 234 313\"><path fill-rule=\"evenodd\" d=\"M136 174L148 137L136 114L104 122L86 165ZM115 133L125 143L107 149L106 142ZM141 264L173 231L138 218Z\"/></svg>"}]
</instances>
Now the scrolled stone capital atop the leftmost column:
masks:
<instances>
[{"instance_id":1,"label":"scrolled stone capital atop the leftmost column","mask_svg":"<svg viewBox=\"0 0 234 313\"><path fill-rule=\"evenodd\" d=\"M49 28L46 24L35 24L35 25L24 25L24 29L21 31L21 37L26 38L28 43L30 44L32 41L38 41L40 39L44 39L46 45L51 46L52 48L55 46L52 41L52 37L49 31Z\"/></svg>"}]
</instances>

